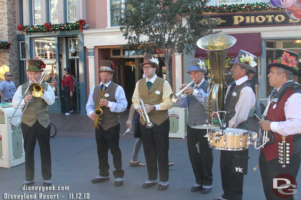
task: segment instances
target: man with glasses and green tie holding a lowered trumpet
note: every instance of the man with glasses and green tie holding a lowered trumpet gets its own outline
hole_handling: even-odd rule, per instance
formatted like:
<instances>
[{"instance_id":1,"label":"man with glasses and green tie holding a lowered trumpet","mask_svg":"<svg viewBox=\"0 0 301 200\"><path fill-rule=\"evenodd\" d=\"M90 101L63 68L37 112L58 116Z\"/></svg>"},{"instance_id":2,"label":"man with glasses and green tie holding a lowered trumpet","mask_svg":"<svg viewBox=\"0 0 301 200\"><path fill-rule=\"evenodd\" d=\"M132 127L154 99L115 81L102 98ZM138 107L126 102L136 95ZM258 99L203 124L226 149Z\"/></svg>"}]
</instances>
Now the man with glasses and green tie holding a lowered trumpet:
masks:
<instances>
[{"instance_id":1,"label":"man with glasses and green tie holding a lowered trumpet","mask_svg":"<svg viewBox=\"0 0 301 200\"><path fill-rule=\"evenodd\" d=\"M158 163L160 176L158 189L166 190L169 186L169 118L167 110L172 108L172 101L169 99L172 89L166 80L157 77L158 64L158 58L155 56L150 54L144 56L144 62L139 66L143 69L146 77L136 83L132 102L140 114L141 138L148 173L148 179L142 187L149 188L157 184ZM142 103L140 98L144 103L145 110L141 110L143 105L139 105ZM143 116L145 119L148 116L150 122L154 124L147 123ZM146 127L146 124L150 126Z\"/></svg>"}]
</instances>

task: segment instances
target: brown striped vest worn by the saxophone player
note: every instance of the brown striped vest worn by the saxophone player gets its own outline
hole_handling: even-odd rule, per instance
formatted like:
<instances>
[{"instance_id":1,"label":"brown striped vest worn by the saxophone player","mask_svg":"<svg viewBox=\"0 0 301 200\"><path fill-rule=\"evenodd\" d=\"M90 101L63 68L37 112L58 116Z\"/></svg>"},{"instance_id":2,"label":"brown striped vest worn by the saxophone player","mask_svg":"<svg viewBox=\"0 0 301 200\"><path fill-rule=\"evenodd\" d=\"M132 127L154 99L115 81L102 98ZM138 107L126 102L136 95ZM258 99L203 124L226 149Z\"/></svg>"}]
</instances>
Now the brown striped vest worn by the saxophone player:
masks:
<instances>
[{"instance_id":1,"label":"brown striped vest worn by the saxophone player","mask_svg":"<svg viewBox=\"0 0 301 200\"><path fill-rule=\"evenodd\" d=\"M108 97L104 96L104 99L107 99L108 101L111 102L116 102L115 99L115 93L118 85L116 83L111 82L109 87L104 90L104 95L109 94ZM99 95L101 94L101 86L96 85L93 91L93 98L94 98L94 109L97 107L97 103L99 100ZM108 130L109 128L116 126L119 124L119 113L118 112L111 112L110 108L107 106L101 106L101 109L104 111L104 113L101 115L102 116L102 121L101 121L101 127L104 130Z\"/></svg>"}]
</instances>

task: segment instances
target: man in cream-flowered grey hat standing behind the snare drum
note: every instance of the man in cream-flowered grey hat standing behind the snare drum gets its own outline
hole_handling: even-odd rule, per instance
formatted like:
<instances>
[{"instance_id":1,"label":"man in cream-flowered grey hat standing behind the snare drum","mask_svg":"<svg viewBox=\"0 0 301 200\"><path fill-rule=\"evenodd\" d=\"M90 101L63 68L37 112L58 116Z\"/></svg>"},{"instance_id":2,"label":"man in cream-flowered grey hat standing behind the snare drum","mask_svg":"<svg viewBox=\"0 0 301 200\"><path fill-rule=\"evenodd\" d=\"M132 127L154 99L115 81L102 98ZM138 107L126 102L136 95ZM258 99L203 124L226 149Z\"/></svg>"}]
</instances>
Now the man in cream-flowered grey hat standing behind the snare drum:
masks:
<instances>
[{"instance_id":1,"label":"man in cream-flowered grey hat standing behind the snare drum","mask_svg":"<svg viewBox=\"0 0 301 200\"><path fill-rule=\"evenodd\" d=\"M244 50L240 50L231 68L232 78L225 96L225 110L229 112L229 127L248 129L247 118L251 108L255 105L255 94L248 83L248 74L255 72L257 57ZM248 150L226 151L221 150L220 168L222 198L226 200L239 200L243 196L244 174L247 174Z\"/></svg>"}]
</instances>

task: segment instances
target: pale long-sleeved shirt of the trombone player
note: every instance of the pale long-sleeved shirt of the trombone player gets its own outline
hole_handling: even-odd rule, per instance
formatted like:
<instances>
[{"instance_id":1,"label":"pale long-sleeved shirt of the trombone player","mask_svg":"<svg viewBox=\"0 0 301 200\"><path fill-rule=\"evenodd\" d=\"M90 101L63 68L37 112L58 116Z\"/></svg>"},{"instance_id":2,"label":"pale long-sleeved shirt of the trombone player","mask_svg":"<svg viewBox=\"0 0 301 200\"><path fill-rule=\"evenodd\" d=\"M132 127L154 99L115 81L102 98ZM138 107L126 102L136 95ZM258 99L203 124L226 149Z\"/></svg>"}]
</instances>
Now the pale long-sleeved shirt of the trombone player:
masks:
<instances>
[{"instance_id":1,"label":"pale long-sleeved shirt of the trombone player","mask_svg":"<svg viewBox=\"0 0 301 200\"><path fill-rule=\"evenodd\" d=\"M46 85L48 85L48 84L46 84ZM33 97L33 98L38 98L38 97ZM47 90L44 90L44 95L41 98L44 99L48 105L54 104L54 99L55 99L54 91L50 85L48 85ZM20 103L20 101L21 101L21 103ZM23 108L26 105L25 99L23 98L23 94L22 94L22 85L20 85L18 87L18 89L13 97L13 100L12 100L13 108L16 109L19 103L20 103L19 109Z\"/></svg>"}]
</instances>

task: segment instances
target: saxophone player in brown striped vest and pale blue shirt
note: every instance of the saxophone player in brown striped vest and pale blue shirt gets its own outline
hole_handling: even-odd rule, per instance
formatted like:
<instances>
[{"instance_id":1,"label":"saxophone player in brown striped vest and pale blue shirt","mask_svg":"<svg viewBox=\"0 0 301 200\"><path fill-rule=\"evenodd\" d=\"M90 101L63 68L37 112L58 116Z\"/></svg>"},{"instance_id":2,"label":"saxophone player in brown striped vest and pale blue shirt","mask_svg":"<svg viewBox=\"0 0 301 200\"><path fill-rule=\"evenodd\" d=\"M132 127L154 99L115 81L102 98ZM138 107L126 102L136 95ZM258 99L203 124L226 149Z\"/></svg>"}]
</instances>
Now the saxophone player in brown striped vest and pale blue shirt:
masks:
<instances>
[{"instance_id":1,"label":"saxophone player in brown striped vest and pale blue shirt","mask_svg":"<svg viewBox=\"0 0 301 200\"><path fill-rule=\"evenodd\" d=\"M95 129L99 174L91 182L100 183L110 180L108 163L108 151L110 149L115 167L113 172L115 186L122 186L124 171L121 168L122 161L119 148L119 112L125 111L128 103L123 88L112 82L115 64L112 61L101 61L98 71L101 83L92 88L86 105L87 115L93 122L95 120L94 110L98 105L103 110L101 124ZM100 98L103 87L105 87L103 98Z\"/></svg>"}]
</instances>

